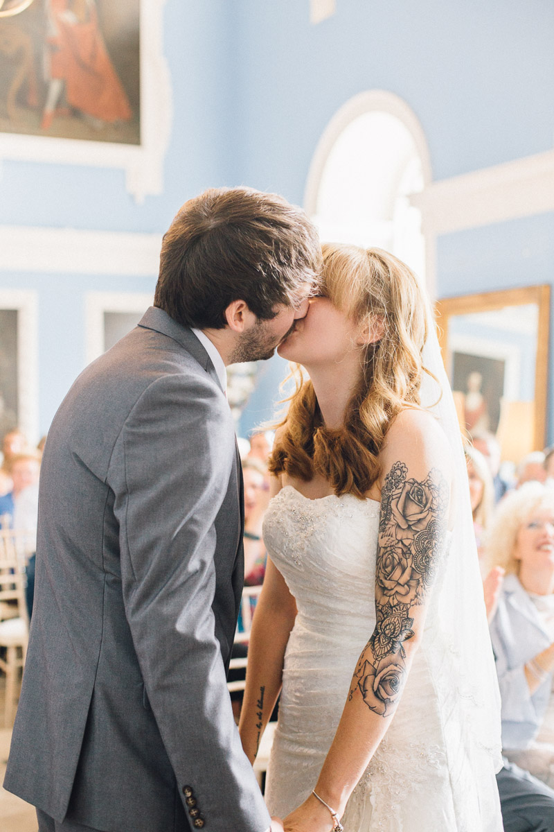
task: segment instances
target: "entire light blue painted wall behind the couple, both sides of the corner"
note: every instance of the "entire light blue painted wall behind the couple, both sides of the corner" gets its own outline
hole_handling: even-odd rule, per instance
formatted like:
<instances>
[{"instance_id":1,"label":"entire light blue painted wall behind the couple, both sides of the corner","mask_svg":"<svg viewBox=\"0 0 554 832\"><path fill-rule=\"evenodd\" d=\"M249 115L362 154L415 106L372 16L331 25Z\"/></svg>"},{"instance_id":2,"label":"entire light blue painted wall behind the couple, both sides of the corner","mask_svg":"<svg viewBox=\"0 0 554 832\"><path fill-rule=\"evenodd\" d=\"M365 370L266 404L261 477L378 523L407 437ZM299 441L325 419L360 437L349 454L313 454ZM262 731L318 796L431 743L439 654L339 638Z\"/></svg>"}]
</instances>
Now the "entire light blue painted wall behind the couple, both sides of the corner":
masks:
<instances>
[{"instance_id":1,"label":"entire light blue painted wall behind the couple, both sides of the corner","mask_svg":"<svg viewBox=\"0 0 554 832\"><path fill-rule=\"evenodd\" d=\"M374 88L419 117L435 179L547 151L552 42L550 0L337 0L317 26L308 0L168 0L174 124L164 194L137 206L121 171L5 162L0 224L163 231L189 196L241 182L302 203L327 123ZM444 236L439 295L551 282L553 230L547 215ZM154 280L0 273L0 287L40 286L41 430L84 360L84 293L147 291ZM268 416L283 372L278 359L264 368L242 433Z\"/></svg>"}]
</instances>

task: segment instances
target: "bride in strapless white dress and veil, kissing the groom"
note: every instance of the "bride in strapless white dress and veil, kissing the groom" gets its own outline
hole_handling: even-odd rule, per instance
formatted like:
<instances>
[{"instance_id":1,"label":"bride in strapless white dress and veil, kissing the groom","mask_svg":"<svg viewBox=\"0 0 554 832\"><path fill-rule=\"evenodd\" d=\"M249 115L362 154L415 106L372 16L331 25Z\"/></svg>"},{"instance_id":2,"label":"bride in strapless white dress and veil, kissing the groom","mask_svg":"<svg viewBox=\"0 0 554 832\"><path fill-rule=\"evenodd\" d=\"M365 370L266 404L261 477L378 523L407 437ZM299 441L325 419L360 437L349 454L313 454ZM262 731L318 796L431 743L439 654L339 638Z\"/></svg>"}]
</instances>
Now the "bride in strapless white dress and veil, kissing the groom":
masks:
<instances>
[{"instance_id":1,"label":"bride in strapless white dress and veil, kissing the groom","mask_svg":"<svg viewBox=\"0 0 554 832\"><path fill-rule=\"evenodd\" d=\"M282 343L269 559L240 733L291 832L501 832L498 686L467 474L429 305L385 251L323 247Z\"/></svg>"}]
</instances>

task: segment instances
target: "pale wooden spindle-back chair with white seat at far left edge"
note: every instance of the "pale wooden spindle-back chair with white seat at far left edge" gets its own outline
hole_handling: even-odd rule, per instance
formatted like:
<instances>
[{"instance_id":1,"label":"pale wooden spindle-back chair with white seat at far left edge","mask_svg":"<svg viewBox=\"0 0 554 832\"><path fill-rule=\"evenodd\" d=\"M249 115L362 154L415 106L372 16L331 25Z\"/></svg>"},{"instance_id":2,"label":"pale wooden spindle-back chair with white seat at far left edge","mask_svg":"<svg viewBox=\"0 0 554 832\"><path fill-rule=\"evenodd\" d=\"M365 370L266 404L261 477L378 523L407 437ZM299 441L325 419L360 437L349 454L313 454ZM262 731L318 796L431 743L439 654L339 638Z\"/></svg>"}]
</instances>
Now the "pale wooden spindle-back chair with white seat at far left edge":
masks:
<instances>
[{"instance_id":1,"label":"pale wooden spindle-back chair with white seat at far left edge","mask_svg":"<svg viewBox=\"0 0 554 832\"><path fill-rule=\"evenodd\" d=\"M29 621L25 599L25 567L22 563L21 544L25 532L0 530L0 602L10 609L10 617L0 621L0 648L6 656L0 658L0 671L6 676L6 700L4 703L4 728L12 726L17 704L17 677L25 664ZM12 615L13 609L17 615Z\"/></svg>"}]
</instances>

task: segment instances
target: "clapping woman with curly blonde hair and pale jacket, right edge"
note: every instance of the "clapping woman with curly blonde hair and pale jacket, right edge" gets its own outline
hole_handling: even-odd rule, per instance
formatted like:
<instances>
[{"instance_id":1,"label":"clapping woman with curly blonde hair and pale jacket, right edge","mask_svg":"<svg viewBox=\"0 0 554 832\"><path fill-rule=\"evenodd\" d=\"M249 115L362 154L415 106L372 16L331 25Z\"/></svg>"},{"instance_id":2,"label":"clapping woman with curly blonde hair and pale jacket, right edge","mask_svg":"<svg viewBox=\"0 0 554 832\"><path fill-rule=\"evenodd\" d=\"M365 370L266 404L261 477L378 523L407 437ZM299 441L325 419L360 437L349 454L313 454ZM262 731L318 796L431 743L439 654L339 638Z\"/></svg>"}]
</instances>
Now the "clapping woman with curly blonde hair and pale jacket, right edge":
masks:
<instances>
[{"instance_id":1,"label":"clapping woman with curly blonde hair and pale jacket, right edge","mask_svg":"<svg viewBox=\"0 0 554 832\"><path fill-rule=\"evenodd\" d=\"M552 830L554 488L525 483L503 499L488 557L507 572L491 623L507 760L498 775L504 826ZM524 818L532 825L523 825Z\"/></svg>"}]
</instances>

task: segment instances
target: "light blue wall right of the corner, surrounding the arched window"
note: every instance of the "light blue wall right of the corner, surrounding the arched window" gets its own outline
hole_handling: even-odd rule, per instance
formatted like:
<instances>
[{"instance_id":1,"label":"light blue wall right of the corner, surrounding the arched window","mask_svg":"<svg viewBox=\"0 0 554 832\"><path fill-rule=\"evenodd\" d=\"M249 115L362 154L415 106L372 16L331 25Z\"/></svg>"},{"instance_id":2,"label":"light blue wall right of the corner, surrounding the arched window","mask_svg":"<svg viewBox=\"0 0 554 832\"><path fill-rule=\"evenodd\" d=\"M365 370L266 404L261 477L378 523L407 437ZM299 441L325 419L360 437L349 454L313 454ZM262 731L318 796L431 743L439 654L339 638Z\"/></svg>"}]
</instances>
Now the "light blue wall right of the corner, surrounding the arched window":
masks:
<instances>
[{"instance_id":1,"label":"light blue wall right of the corner, surrounding the arched window","mask_svg":"<svg viewBox=\"0 0 554 832\"><path fill-rule=\"evenodd\" d=\"M435 180L552 149L554 6L547 0L337 0L336 14L317 26L307 5L237 4L239 179L302 203L321 133L368 89L394 92L418 116ZM553 231L551 214L439 238L439 297L552 283ZM266 389L285 372L278 359L265 372L243 433L267 418ZM550 389L552 404L554 368Z\"/></svg>"}]
</instances>

